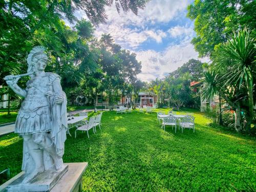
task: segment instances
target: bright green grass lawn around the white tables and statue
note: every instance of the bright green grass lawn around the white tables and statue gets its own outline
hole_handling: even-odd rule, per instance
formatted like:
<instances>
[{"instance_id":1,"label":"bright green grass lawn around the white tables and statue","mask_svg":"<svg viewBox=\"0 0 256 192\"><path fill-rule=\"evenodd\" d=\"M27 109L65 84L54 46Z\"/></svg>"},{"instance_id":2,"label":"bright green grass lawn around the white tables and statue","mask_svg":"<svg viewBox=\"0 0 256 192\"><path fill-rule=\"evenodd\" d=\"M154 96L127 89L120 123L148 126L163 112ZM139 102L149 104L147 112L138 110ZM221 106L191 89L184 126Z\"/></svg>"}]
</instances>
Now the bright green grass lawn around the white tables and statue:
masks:
<instances>
[{"instance_id":1,"label":"bright green grass lawn around the white tables and statue","mask_svg":"<svg viewBox=\"0 0 256 192\"><path fill-rule=\"evenodd\" d=\"M255 138L213 129L195 113L196 132L160 129L156 113L104 112L90 139L66 141L65 162L89 162L84 191L249 191L256 187ZM19 173L22 139L0 137L0 170Z\"/></svg>"}]
</instances>

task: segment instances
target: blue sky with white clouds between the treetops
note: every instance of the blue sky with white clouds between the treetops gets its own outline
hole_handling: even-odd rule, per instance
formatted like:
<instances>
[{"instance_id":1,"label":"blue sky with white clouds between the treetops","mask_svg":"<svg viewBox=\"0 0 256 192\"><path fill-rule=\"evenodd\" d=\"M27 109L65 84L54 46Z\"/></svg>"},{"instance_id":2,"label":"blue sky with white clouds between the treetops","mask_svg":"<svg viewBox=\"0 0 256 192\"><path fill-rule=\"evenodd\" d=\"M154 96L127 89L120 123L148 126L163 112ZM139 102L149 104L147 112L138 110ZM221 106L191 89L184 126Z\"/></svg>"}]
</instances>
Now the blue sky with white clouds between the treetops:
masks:
<instances>
[{"instance_id":1,"label":"blue sky with white clouds between the treetops","mask_svg":"<svg viewBox=\"0 0 256 192\"><path fill-rule=\"evenodd\" d=\"M109 19L96 28L95 36L110 33L123 49L135 52L142 65L139 79L163 78L189 59L198 59L190 44L195 36L194 22L186 18L191 3L193 0L152 0L138 16L132 12L118 14L114 5L107 7ZM83 12L77 16L87 18Z\"/></svg>"}]
</instances>

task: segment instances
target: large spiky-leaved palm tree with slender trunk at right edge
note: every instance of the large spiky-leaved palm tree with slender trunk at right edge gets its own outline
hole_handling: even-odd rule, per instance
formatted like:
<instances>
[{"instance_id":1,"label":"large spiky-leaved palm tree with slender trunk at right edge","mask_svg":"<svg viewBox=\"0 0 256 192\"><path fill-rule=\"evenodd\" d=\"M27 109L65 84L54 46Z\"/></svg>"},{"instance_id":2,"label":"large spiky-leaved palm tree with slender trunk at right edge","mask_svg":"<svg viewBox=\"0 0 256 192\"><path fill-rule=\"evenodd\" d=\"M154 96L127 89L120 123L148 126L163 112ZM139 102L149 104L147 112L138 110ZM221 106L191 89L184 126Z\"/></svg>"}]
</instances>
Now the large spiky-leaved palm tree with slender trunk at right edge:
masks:
<instances>
[{"instance_id":1,"label":"large spiky-leaved palm tree with slender trunk at right edge","mask_svg":"<svg viewBox=\"0 0 256 192\"><path fill-rule=\"evenodd\" d=\"M253 118L253 73L256 70L255 43L255 38L252 37L250 30L245 28L234 34L226 43L221 44L212 57L215 68L218 71L225 71L220 79L223 86L227 87L232 84L240 90L243 83L246 85L249 104L246 118L247 131L250 129Z\"/></svg>"}]
</instances>

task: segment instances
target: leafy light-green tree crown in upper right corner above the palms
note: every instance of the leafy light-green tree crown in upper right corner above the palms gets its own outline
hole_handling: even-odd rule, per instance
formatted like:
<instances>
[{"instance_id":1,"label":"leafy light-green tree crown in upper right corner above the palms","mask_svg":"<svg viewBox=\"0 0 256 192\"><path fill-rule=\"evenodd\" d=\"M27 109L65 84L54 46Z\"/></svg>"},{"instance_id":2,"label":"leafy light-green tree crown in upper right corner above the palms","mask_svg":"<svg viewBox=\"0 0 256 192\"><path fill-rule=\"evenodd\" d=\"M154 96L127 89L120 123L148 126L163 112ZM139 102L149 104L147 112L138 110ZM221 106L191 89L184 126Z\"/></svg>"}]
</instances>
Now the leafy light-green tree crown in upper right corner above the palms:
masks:
<instances>
[{"instance_id":1,"label":"leafy light-green tree crown in upper right corner above the palms","mask_svg":"<svg viewBox=\"0 0 256 192\"><path fill-rule=\"evenodd\" d=\"M247 26L255 29L255 1L195 0L187 7L187 17L195 20L197 36L191 41L200 57L211 56L215 46Z\"/></svg>"}]
</instances>

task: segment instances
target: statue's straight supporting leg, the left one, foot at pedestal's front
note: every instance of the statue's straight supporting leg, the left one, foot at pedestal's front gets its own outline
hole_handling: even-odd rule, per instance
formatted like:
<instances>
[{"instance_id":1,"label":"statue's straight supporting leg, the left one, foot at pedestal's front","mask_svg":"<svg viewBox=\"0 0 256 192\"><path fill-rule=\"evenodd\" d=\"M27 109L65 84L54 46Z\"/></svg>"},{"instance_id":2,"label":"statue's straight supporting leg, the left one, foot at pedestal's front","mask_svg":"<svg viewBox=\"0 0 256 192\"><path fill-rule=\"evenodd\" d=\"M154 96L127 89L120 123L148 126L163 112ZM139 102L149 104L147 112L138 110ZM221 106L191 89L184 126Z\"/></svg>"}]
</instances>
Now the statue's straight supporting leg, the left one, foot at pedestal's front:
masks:
<instances>
[{"instance_id":1,"label":"statue's straight supporting leg, the left one, foot at pedestal's front","mask_svg":"<svg viewBox=\"0 0 256 192\"><path fill-rule=\"evenodd\" d=\"M35 162L35 169L24 180L23 183L27 183L34 179L37 175L45 171L44 164L42 163L42 151L39 146L33 141L32 135L24 135L24 142L27 142L29 155Z\"/></svg>"}]
</instances>

